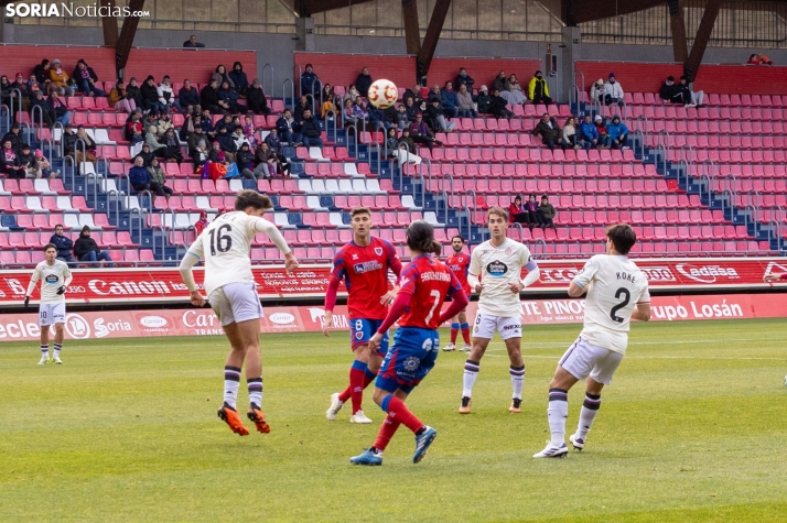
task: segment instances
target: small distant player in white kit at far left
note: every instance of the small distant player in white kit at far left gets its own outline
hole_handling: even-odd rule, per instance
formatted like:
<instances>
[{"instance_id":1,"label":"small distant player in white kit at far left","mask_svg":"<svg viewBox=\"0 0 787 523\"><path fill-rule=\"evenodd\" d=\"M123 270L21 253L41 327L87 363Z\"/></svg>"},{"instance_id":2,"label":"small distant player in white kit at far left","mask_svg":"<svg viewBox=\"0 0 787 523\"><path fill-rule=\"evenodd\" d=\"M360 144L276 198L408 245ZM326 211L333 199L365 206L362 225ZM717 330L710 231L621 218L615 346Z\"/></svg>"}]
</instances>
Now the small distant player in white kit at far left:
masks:
<instances>
[{"instance_id":1,"label":"small distant player in white kit at far left","mask_svg":"<svg viewBox=\"0 0 787 523\"><path fill-rule=\"evenodd\" d=\"M44 261L35 265L33 276L30 279L28 292L24 295L24 307L30 305L30 295L35 290L35 284L41 281L41 304L39 305L39 325L41 326L41 361L57 364L61 361L63 348L63 324L65 324L65 291L72 281L68 264L57 259L57 247L53 243L44 246ZM50 326L55 326L55 345L50 360Z\"/></svg>"}]
</instances>

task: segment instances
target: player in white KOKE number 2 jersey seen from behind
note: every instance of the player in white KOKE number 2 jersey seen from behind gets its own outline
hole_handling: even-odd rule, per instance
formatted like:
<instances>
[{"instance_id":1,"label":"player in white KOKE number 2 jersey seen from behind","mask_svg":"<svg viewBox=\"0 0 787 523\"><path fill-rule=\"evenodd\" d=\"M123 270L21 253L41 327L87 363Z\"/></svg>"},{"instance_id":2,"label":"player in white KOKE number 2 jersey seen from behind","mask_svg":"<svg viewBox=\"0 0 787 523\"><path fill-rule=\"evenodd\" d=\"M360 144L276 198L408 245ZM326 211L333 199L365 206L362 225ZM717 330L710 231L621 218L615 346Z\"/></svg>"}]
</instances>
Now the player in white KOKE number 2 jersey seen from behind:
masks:
<instances>
[{"instance_id":1,"label":"player in white KOKE number 2 jersey seen from behind","mask_svg":"<svg viewBox=\"0 0 787 523\"><path fill-rule=\"evenodd\" d=\"M585 263L569 285L569 296L585 297L585 322L580 337L565 351L549 384L549 431L551 439L533 458L561 458L565 446L569 390L585 380L585 400L576 432L569 438L576 450L585 446L587 431L601 406L601 390L612 382L628 345L630 318L650 319L650 294L645 274L626 255L637 241L630 226L619 224L606 230L606 254Z\"/></svg>"}]
</instances>

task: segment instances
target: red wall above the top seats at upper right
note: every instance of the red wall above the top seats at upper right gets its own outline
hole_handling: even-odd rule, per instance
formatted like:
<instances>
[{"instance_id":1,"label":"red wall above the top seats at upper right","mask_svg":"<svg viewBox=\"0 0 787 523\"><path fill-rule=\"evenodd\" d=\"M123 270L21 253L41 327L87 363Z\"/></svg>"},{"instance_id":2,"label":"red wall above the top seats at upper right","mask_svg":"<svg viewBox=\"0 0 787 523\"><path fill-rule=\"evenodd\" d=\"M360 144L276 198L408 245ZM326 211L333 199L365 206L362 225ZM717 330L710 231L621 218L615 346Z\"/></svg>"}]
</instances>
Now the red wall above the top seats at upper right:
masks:
<instances>
[{"instance_id":1,"label":"red wall above the top seats at upper right","mask_svg":"<svg viewBox=\"0 0 787 523\"><path fill-rule=\"evenodd\" d=\"M593 81L599 78L606 80L610 73L615 73L623 90L627 92L658 92L668 76L675 76L677 79L683 74L681 64L579 61L574 66L576 72L585 75L585 91L590 90ZM694 89L730 95L785 95L787 67L703 65L694 80Z\"/></svg>"}]
</instances>

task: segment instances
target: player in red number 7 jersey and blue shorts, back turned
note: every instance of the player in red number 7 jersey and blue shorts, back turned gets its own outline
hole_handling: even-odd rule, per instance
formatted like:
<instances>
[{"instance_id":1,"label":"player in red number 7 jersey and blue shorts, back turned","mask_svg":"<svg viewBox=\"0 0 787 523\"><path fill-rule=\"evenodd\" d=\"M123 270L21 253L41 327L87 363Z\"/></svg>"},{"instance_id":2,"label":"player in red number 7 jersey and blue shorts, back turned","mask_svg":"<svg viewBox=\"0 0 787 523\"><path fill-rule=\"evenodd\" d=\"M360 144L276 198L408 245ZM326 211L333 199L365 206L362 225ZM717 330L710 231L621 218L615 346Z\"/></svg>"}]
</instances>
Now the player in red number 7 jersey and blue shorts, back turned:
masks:
<instances>
[{"instance_id":1,"label":"player in red number 7 jersey and blue shorts, back turned","mask_svg":"<svg viewBox=\"0 0 787 523\"><path fill-rule=\"evenodd\" d=\"M349 458L353 465L382 465L382 450L400 424L416 434L414 464L423 459L438 435L434 428L410 412L405 400L434 367L440 347L438 327L467 306L467 295L456 275L432 257L440 254L442 246L434 241L434 229L430 224L423 220L410 224L407 247L412 261L402 271L401 290L388 317L369 340L370 348L379 347L388 328L399 320L394 345L375 382L375 403L387 416L375 444L364 454ZM446 296L453 302L441 314Z\"/></svg>"}]
</instances>

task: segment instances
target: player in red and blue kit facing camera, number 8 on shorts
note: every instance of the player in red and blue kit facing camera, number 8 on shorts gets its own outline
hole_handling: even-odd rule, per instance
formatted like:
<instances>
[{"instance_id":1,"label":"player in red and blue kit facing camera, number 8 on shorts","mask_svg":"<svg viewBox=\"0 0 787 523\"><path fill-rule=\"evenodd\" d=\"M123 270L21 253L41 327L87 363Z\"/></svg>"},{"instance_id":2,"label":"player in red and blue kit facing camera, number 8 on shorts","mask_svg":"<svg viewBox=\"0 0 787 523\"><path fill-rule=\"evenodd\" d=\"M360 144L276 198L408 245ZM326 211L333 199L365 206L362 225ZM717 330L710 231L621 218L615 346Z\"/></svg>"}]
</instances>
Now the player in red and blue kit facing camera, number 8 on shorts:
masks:
<instances>
[{"instance_id":1,"label":"player in red and blue kit facing camera, number 8 on shorts","mask_svg":"<svg viewBox=\"0 0 787 523\"><path fill-rule=\"evenodd\" d=\"M325 295L323 333L328 335L333 326L333 307L336 291L344 280L349 307L349 335L355 361L349 369L349 385L344 392L331 395L331 406L325 412L328 421L336 418L347 400L352 400L351 423L371 423L362 410L364 389L377 375L382 358L388 351L388 335L378 350L369 349L369 338L377 331L388 315L388 305L394 303L398 287L388 291L388 269L399 280L401 261L390 242L371 236L371 211L358 207L351 211L353 241L339 249L333 259L333 271Z\"/></svg>"}]
</instances>

